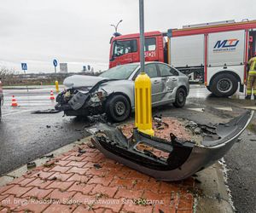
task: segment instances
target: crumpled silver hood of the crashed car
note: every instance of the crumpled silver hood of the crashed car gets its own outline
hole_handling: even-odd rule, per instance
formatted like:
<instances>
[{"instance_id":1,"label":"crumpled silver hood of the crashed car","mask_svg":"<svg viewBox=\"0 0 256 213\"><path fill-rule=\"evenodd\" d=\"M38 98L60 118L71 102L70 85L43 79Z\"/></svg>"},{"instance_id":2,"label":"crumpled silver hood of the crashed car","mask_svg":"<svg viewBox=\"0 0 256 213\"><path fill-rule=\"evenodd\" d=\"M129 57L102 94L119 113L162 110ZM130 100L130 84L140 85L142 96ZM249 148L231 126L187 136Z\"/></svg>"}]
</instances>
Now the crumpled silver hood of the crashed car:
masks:
<instances>
[{"instance_id":1,"label":"crumpled silver hood of the crashed car","mask_svg":"<svg viewBox=\"0 0 256 213\"><path fill-rule=\"evenodd\" d=\"M73 75L65 78L63 84L68 88L92 87L103 79L98 76Z\"/></svg>"}]
</instances>

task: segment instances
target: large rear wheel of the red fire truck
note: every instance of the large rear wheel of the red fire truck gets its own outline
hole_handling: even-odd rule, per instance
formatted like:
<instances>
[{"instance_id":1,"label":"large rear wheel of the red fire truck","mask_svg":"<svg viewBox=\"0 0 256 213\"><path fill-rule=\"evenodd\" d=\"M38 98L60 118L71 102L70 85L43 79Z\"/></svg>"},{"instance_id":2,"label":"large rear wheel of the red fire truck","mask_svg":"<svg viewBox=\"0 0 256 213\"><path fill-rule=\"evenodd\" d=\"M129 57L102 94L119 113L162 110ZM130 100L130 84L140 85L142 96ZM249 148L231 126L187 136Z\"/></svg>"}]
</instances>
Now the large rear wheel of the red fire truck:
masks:
<instances>
[{"instance_id":1,"label":"large rear wheel of the red fire truck","mask_svg":"<svg viewBox=\"0 0 256 213\"><path fill-rule=\"evenodd\" d=\"M212 80L212 93L218 97L228 97L236 93L238 82L230 73L219 74Z\"/></svg>"}]
</instances>

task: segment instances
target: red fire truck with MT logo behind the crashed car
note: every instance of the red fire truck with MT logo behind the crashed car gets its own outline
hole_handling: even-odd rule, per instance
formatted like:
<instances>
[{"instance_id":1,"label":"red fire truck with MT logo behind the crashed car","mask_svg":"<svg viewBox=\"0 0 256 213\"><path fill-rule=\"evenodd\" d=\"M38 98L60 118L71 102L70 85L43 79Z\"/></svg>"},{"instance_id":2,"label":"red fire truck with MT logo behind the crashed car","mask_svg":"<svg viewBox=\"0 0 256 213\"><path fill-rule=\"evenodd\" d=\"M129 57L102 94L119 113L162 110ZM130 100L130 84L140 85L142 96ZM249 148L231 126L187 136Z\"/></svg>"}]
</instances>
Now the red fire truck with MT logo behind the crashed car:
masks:
<instances>
[{"instance_id":1,"label":"red fire truck with MT logo behind the crashed car","mask_svg":"<svg viewBox=\"0 0 256 213\"><path fill-rule=\"evenodd\" d=\"M112 37L109 67L140 60L139 34ZM225 20L145 33L145 60L177 67L214 95L244 91L247 60L256 52L256 20Z\"/></svg>"}]
</instances>

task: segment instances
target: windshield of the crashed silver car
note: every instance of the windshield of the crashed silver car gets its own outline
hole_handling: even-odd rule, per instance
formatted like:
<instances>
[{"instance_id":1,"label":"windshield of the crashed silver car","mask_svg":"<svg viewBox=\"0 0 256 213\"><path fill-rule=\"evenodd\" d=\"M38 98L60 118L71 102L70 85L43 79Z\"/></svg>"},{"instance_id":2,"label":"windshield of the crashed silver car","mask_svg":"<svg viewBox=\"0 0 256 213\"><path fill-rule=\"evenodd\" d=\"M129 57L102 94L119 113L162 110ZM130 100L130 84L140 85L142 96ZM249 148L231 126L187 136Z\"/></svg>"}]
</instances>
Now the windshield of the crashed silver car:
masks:
<instances>
[{"instance_id":1,"label":"windshield of the crashed silver car","mask_svg":"<svg viewBox=\"0 0 256 213\"><path fill-rule=\"evenodd\" d=\"M115 66L105 72L103 72L100 76L103 78L113 78L118 80L128 79L132 72L136 70L138 65L120 65Z\"/></svg>"}]
</instances>

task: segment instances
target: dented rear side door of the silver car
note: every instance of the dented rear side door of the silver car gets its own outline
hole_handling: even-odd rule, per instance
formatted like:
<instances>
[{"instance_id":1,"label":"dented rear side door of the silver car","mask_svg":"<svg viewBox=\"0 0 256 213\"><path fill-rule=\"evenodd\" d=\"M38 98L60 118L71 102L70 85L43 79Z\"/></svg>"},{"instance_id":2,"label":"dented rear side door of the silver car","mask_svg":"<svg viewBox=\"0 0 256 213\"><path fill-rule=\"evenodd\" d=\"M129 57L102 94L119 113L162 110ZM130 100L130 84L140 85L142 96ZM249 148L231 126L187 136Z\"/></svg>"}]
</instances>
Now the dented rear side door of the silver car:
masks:
<instances>
[{"instance_id":1,"label":"dented rear side door of the silver car","mask_svg":"<svg viewBox=\"0 0 256 213\"><path fill-rule=\"evenodd\" d=\"M158 64L157 66L160 71L161 83L164 85L161 100L172 101L175 99L174 90L177 87L178 72L175 68L166 64Z\"/></svg>"}]
</instances>

